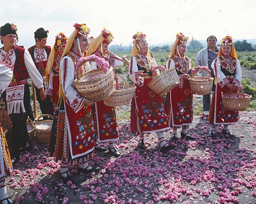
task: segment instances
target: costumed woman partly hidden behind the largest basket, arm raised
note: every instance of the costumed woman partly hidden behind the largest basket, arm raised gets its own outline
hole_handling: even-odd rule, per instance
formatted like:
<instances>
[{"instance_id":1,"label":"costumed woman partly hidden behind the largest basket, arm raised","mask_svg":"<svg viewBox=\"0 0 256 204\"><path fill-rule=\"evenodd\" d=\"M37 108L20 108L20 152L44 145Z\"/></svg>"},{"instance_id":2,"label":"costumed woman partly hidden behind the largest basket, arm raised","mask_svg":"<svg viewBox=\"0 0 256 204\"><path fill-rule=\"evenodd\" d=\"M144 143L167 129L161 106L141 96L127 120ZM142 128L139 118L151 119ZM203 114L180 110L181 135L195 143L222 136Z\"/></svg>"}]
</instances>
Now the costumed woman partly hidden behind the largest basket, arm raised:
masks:
<instances>
[{"instance_id":1,"label":"costumed woman partly hidden behind the largest basket, arm raised","mask_svg":"<svg viewBox=\"0 0 256 204\"><path fill-rule=\"evenodd\" d=\"M106 28L103 28L101 34L90 43L86 56L96 55L100 58L104 58L113 68L123 66L123 60L108 49L112 41L112 33L106 30ZM96 62L91 62L91 70L93 69L97 69ZM114 141L117 141L119 138L115 107L107 106L103 101L96 102L94 117L97 139L99 142L109 142L109 154L119 157L120 153L114 145ZM97 144L97 139L95 140L95 150L104 152L105 148Z\"/></svg>"}]
</instances>

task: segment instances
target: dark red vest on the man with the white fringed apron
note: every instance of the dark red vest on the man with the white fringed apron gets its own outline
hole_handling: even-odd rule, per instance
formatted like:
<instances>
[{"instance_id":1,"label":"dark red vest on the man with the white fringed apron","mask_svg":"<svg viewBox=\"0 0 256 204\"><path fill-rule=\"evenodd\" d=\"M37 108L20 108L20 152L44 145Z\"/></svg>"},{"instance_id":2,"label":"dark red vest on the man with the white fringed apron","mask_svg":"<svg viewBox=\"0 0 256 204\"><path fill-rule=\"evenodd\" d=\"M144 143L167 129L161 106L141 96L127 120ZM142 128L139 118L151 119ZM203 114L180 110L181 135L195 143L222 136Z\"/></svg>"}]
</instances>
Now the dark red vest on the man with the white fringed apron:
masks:
<instances>
[{"instance_id":1,"label":"dark red vest on the man with the white fringed apron","mask_svg":"<svg viewBox=\"0 0 256 204\"><path fill-rule=\"evenodd\" d=\"M15 46L14 52L15 52L16 60L14 63L12 81L22 81L29 77L29 74L27 72L27 68L26 68L25 62L24 62L25 49Z\"/></svg>"}]
</instances>

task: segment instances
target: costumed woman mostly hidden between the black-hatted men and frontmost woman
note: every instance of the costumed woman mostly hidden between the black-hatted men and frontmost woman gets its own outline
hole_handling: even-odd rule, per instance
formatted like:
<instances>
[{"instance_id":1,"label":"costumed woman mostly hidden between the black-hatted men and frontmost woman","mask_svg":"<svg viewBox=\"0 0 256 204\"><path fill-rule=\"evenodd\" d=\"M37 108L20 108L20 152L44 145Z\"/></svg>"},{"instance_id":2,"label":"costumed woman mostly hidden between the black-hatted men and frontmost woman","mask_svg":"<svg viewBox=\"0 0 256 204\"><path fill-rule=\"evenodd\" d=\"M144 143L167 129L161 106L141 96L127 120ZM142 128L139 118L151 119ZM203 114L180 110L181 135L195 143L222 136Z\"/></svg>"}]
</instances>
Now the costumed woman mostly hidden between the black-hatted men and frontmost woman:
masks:
<instances>
[{"instance_id":1,"label":"costumed woman mostly hidden between the black-hatted men and frontmost woman","mask_svg":"<svg viewBox=\"0 0 256 204\"><path fill-rule=\"evenodd\" d=\"M53 49L51 50L46 66L46 82L48 84L46 94L50 95L52 98L53 112L55 112L58 101L58 89L60 87L58 72L60 69L61 57L66 47L67 40L68 39L64 33L58 33L58 35L55 36Z\"/></svg>"}]
</instances>

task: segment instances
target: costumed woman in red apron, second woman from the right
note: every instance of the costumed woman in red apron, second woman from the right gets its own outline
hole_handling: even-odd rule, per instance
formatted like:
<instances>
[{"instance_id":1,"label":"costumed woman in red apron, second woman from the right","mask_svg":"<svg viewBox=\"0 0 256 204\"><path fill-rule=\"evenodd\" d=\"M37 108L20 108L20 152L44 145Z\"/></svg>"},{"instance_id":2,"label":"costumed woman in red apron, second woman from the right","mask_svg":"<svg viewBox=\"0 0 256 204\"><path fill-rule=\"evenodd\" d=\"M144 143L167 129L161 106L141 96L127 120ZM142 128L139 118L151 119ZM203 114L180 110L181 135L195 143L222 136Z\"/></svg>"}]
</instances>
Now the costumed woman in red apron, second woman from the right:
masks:
<instances>
[{"instance_id":1,"label":"costumed woman in red apron, second woman from the right","mask_svg":"<svg viewBox=\"0 0 256 204\"><path fill-rule=\"evenodd\" d=\"M176 40L172 46L166 68L176 69L180 84L166 95L165 105L169 124L173 130L173 139L177 138L177 128L182 127L181 138L194 140L195 138L188 133L189 125L193 120L193 94L189 84L191 60L184 56L188 39L182 33L176 34Z\"/></svg>"}]
</instances>

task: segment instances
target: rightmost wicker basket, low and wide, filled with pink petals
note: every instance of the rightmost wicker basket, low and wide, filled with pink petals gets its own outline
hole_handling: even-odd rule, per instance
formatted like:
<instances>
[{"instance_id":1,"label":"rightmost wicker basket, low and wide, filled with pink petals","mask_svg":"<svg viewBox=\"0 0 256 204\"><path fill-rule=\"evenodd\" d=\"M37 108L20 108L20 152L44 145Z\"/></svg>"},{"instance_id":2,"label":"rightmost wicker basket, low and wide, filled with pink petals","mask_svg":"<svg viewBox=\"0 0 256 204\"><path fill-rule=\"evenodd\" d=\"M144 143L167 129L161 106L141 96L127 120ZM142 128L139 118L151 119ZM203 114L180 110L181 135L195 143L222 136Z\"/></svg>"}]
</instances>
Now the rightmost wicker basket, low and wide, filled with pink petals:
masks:
<instances>
[{"instance_id":1,"label":"rightmost wicker basket, low and wide, filled with pink petals","mask_svg":"<svg viewBox=\"0 0 256 204\"><path fill-rule=\"evenodd\" d=\"M245 94L243 90L241 90L241 93L222 93L221 97L223 108L230 111L245 111L252 99L252 96Z\"/></svg>"}]
</instances>

